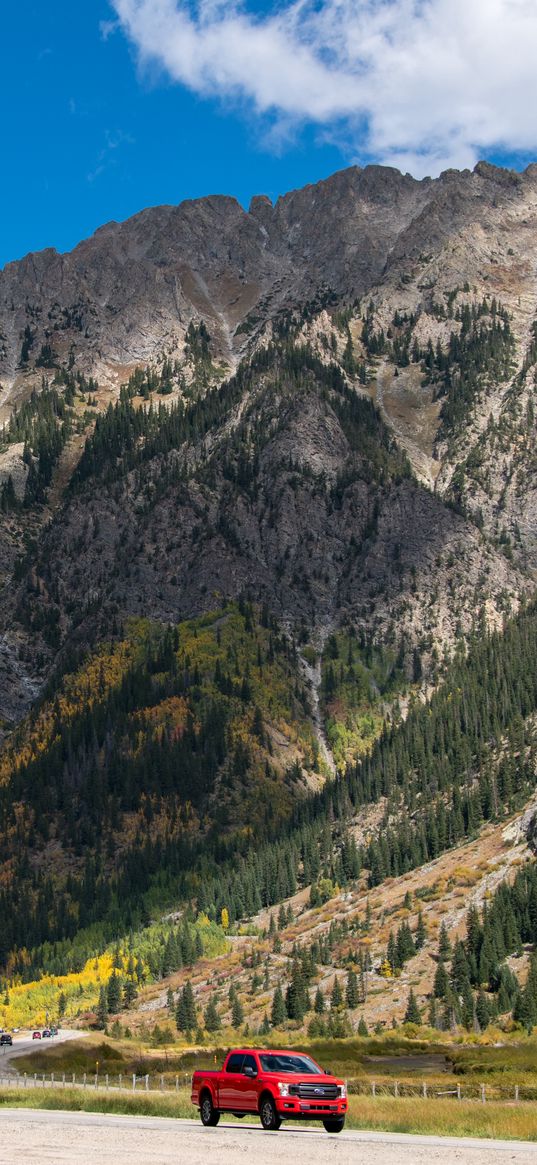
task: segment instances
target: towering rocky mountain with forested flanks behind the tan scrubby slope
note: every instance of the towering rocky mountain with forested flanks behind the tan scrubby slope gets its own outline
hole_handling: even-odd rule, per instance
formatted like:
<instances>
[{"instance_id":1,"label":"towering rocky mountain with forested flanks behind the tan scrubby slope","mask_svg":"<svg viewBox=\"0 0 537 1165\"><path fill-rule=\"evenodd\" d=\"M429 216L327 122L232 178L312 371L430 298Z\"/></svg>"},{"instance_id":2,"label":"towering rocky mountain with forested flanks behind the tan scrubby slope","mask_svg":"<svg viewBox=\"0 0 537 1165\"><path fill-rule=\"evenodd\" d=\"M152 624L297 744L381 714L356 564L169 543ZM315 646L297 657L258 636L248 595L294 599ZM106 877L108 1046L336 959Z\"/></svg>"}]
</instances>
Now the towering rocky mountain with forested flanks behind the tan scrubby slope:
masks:
<instances>
[{"instance_id":1,"label":"towering rocky mountain with forested flanks behind the tan scrubby slope","mask_svg":"<svg viewBox=\"0 0 537 1165\"><path fill-rule=\"evenodd\" d=\"M534 821L536 270L537 167L481 163L0 273L6 983Z\"/></svg>"}]
</instances>

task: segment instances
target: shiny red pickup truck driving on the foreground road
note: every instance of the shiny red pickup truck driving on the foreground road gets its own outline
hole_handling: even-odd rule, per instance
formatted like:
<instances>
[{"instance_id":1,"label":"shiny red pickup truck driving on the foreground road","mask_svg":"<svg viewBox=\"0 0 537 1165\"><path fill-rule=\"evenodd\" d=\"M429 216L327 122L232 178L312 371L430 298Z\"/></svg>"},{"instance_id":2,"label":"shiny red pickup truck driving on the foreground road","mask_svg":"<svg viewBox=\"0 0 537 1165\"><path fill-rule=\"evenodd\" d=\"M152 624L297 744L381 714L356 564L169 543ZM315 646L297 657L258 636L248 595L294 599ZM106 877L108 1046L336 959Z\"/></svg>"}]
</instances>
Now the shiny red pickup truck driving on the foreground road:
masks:
<instances>
[{"instance_id":1,"label":"shiny red pickup truck driving on the foreground road","mask_svg":"<svg viewBox=\"0 0 537 1165\"><path fill-rule=\"evenodd\" d=\"M220 1072L195 1072L192 1104L203 1124L218 1124L221 1113L257 1113L263 1129L282 1121L323 1121L327 1132L341 1132L347 1088L303 1052L228 1052Z\"/></svg>"}]
</instances>

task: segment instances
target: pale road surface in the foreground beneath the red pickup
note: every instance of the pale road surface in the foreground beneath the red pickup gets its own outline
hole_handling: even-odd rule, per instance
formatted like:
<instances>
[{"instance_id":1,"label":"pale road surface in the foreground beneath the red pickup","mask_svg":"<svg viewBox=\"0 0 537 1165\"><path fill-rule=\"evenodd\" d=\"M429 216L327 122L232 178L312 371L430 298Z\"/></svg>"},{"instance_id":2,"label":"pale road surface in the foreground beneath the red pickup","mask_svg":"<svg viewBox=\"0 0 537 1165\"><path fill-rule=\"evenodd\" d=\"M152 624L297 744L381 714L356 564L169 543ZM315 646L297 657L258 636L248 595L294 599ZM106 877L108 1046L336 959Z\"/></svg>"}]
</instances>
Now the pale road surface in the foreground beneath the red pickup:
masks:
<instances>
[{"instance_id":1,"label":"pale road surface in the foreground beneath the red pickup","mask_svg":"<svg viewBox=\"0 0 537 1165\"><path fill-rule=\"evenodd\" d=\"M2 1165L537 1165L537 1144L0 1110Z\"/></svg>"}]
</instances>

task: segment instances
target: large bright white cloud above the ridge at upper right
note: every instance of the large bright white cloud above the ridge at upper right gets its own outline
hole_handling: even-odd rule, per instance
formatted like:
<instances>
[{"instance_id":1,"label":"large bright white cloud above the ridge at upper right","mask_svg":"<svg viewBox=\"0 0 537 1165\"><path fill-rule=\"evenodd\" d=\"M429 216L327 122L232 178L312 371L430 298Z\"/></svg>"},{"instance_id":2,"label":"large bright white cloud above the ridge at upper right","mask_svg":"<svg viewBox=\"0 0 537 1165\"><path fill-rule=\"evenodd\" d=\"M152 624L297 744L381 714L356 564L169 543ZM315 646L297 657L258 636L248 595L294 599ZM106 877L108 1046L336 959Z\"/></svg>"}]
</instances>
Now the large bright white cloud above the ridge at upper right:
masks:
<instances>
[{"instance_id":1,"label":"large bright white cloud above the ridge at upper right","mask_svg":"<svg viewBox=\"0 0 537 1165\"><path fill-rule=\"evenodd\" d=\"M438 174L537 150L536 0L113 0L142 64Z\"/></svg>"}]
</instances>

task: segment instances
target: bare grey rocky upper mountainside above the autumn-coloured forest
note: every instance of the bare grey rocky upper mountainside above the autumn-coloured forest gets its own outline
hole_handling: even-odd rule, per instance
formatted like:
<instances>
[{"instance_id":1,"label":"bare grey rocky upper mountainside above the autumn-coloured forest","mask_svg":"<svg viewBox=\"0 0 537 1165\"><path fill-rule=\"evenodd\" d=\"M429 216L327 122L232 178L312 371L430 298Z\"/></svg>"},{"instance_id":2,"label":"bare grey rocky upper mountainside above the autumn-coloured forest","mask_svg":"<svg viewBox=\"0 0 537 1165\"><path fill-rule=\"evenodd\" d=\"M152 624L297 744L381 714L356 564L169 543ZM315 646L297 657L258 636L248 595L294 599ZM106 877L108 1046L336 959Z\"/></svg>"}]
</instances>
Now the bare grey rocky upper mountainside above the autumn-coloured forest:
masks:
<instances>
[{"instance_id":1,"label":"bare grey rocky upper mountainside above the autumn-coloured forest","mask_svg":"<svg viewBox=\"0 0 537 1165\"><path fill-rule=\"evenodd\" d=\"M3 714L73 638L217 596L248 593L318 645L352 626L425 675L476 620L501 622L537 565L536 271L537 167L483 163L423 182L353 168L248 212L157 207L8 264L3 419L43 376L59 393L96 377L80 400L99 412L146 365L161 388L128 409L195 411L181 439L164 414L150 440L109 419L98 468L70 482L94 421L68 386L45 494L1 518ZM20 494L38 454L15 436L0 478Z\"/></svg>"}]
</instances>

